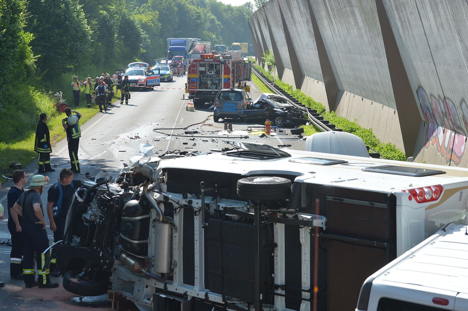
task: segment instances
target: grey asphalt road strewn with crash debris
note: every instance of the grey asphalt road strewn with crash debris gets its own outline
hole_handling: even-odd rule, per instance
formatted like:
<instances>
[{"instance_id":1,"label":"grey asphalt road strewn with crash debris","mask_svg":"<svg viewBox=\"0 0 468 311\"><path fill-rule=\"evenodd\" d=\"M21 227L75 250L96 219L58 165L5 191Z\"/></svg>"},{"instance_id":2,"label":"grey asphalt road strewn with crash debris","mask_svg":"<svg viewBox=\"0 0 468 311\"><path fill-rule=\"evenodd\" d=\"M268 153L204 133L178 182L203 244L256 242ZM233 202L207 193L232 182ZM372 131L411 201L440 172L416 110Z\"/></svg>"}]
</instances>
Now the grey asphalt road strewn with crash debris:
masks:
<instances>
[{"instance_id":1,"label":"grey asphalt road strewn with crash debris","mask_svg":"<svg viewBox=\"0 0 468 311\"><path fill-rule=\"evenodd\" d=\"M190 124L201 123L208 116L212 115L212 110L208 104L205 108L197 108L195 111L186 111L187 100L182 100L184 94L184 83L186 77L174 77L172 82L161 82L160 87L151 91L135 91L131 94L129 105L111 106L107 113L98 113L87 123L82 124L80 138L80 177L94 176L101 170L106 171L112 177L116 177L123 164L128 162L139 144L150 143L154 145L154 153L162 154L166 151L200 151L206 152L212 149L227 147L222 139L230 137L245 136L248 127L252 130L263 129L263 124L238 123L233 120L233 135L227 134L223 130L223 123L214 123L212 118L206 121L206 125L193 125L187 131L198 131L197 134L185 134L184 129ZM256 99L260 91L253 83L251 85L251 97ZM79 109L78 109L79 111ZM218 126L219 128L209 126ZM162 133L181 135L168 136L157 133L154 129L169 128L168 130L158 130ZM219 132L221 130L221 132ZM289 131L287 131L289 132ZM200 137L197 137L200 136ZM235 139L248 142L259 142L271 146L292 145L291 148L304 150L305 142L298 141L294 135L273 135L271 137L260 138L258 135L248 135L249 138ZM186 144L184 144L186 143ZM51 164L59 165L54 167L56 172L49 173L51 182L45 188L47 192L51 183L59 178L59 171L63 167L70 167L66 139L53 146L51 154ZM37 174L37 162L25 168L28 177ZM80 178L74 176L75 179ZM0 203L7 206L7 191L13 185L8 181L2 185L0 191ZM47 194L42 195L43 206L47 204ZM48 219L46 222L48 223ZM49 238L53 241L52 231L47 227ZM0 242L6 242L10 238L7 229L7 218L0 220ZM32 289L24 288L24 282L10 279L9 260L10 247L0 245L0 281L5 282L5 287L0 289L0 309L9 310L82 310L94 308L107 310L110 302L107 296L99 297L78 297L67 292L60 285L57 289ZM60 282L61 278L52 280Z\"/></svg>"}]
</instances>

